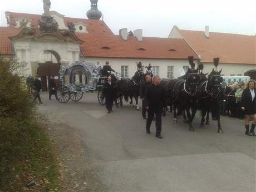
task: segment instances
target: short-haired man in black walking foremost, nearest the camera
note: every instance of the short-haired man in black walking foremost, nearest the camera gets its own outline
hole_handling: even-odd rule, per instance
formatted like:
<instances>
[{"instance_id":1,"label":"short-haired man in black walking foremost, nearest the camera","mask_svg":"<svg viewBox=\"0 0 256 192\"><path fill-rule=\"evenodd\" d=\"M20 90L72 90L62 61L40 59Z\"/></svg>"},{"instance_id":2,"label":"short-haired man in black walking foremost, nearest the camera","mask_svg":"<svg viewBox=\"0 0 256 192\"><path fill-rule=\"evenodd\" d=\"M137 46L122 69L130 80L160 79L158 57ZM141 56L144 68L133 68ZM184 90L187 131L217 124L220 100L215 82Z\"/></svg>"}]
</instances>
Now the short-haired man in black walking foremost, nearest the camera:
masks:
<instances>
[{"instance_id":1,"label":"short-haired man in black walking foremost, nearest the camera","mask_svg":"<svg viewBox=\"0 0 256 192\"><path fill-rule=\"evenodd\" d=\"M146 88L145 92L145 102L146 110L148 111L146 132L150 134L150 126L154 117L156 115L156 137L163 139L161 136L162 130L162 112L165 101L165 93L163 86L160 86L161 80L159 76L153 78L152 85Z\"/></svg>"}]
</instances>

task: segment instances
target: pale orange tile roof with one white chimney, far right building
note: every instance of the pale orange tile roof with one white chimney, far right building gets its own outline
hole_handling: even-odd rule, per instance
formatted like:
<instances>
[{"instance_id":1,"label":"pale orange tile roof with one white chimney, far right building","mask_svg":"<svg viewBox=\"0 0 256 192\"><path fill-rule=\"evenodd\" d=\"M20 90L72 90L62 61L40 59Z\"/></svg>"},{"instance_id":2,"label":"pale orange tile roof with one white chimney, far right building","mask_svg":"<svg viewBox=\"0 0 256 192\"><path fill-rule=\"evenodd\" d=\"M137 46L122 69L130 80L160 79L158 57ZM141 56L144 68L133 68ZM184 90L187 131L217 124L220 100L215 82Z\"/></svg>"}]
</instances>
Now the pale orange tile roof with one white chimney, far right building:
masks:
<instances>
[{"instance_id":1,"label":"pale orange tile roof with one white chimney, far right building","mask_svg":"<svg viewBox=\"0 0 256 192\"><path fill-rule=\"evenodd\" d=\"M203 62L220 57L221 63L256 64L256 36L210 32L206 38L204 31L179 31Z\"/></svg>"}]
</instances>

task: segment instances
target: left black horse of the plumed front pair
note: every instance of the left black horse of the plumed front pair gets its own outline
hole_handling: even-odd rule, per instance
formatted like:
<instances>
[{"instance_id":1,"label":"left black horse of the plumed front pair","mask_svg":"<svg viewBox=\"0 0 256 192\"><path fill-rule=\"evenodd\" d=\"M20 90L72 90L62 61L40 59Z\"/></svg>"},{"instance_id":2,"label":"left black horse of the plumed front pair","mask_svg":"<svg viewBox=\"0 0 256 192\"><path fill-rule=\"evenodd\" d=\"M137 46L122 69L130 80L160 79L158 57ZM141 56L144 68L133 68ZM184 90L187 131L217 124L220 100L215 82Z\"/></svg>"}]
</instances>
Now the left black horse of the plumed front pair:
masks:
<instances>
[{"instance_id":1,"label":"left black horse of the plumed front pair","mask_svg":"<svg viewBox=\"0 0 256 192\"><path fill-rule=\"evenodd\" d=\"M169 89L169 95L173 101L174 122L177 122L177 117L181 112L183 112L183 116L185 118L186 116L184 111L186 111L190 131L195 131L192 122L197 109L199 82L198 70L199 68L196 70L189 68L183 78L170 80L166 88ZM192 113L190 113L190 109Z\"/></svg>"}]
</instances>

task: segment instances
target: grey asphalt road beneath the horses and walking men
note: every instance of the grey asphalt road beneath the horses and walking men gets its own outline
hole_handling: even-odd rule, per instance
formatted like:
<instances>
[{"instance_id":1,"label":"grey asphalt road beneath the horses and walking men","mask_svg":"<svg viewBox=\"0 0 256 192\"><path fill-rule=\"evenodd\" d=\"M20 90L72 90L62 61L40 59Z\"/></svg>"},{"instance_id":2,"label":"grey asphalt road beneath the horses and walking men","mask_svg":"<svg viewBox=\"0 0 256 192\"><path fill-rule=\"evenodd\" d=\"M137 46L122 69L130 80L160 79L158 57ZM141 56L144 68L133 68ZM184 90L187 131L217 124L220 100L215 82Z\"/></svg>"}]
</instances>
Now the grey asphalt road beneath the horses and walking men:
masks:
<instances>
[{"instance_id":1,"label":"grey asphalt road beneath the horses and walking men","mask_svg":"<svg viewBox=\"0 0 256 192\"><path fill-rule=\"evenodd\" d=\"M224 133L218 134L215 121L200 129L197 114L190 132L168 114L160 140L154 123L146 134L141 112L129 104L107 114L96 93L67 104L49 101L47 93L42 98L41 112L82 136L106 191L256 191L256 142L244 135L242 120L221 117Z\"/></svg>"}]
</instances>

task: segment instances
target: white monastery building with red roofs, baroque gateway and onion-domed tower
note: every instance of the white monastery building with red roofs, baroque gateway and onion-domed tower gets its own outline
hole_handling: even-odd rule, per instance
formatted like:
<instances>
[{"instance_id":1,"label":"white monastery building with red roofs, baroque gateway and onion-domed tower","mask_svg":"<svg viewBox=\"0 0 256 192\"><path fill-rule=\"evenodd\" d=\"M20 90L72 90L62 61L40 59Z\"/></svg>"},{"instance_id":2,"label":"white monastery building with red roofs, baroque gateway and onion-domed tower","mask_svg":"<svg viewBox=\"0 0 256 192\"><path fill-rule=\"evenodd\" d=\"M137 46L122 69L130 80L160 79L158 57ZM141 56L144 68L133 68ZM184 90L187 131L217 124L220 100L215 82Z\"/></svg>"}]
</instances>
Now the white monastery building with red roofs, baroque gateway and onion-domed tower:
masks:
<instances>
[{"instance_id":1,"label":"white monastery building with red roofs, baroque gateway and onion-domed tower","mask_svg":"<svg viewBox=\"0 0 256 192\"><path fill-rule=\"evenodd\" d=\"M89 61L103 66L106 61L122 76L133 76L136 62L153 66L154 75L176 78L188 68L188 56L213 68L220 58L223 75L255 75L255 36L186 31L174 26L168 38L143 37L142 29L115 35L100 18L97 0L91 0L88 19L69 18L50 11L45 14L6 12L8 27L0 27L0 57L26 61L25 75L58 76L60 65ZM52 18L52 19L51 19Z\"/></svg>"}]
</instances>

